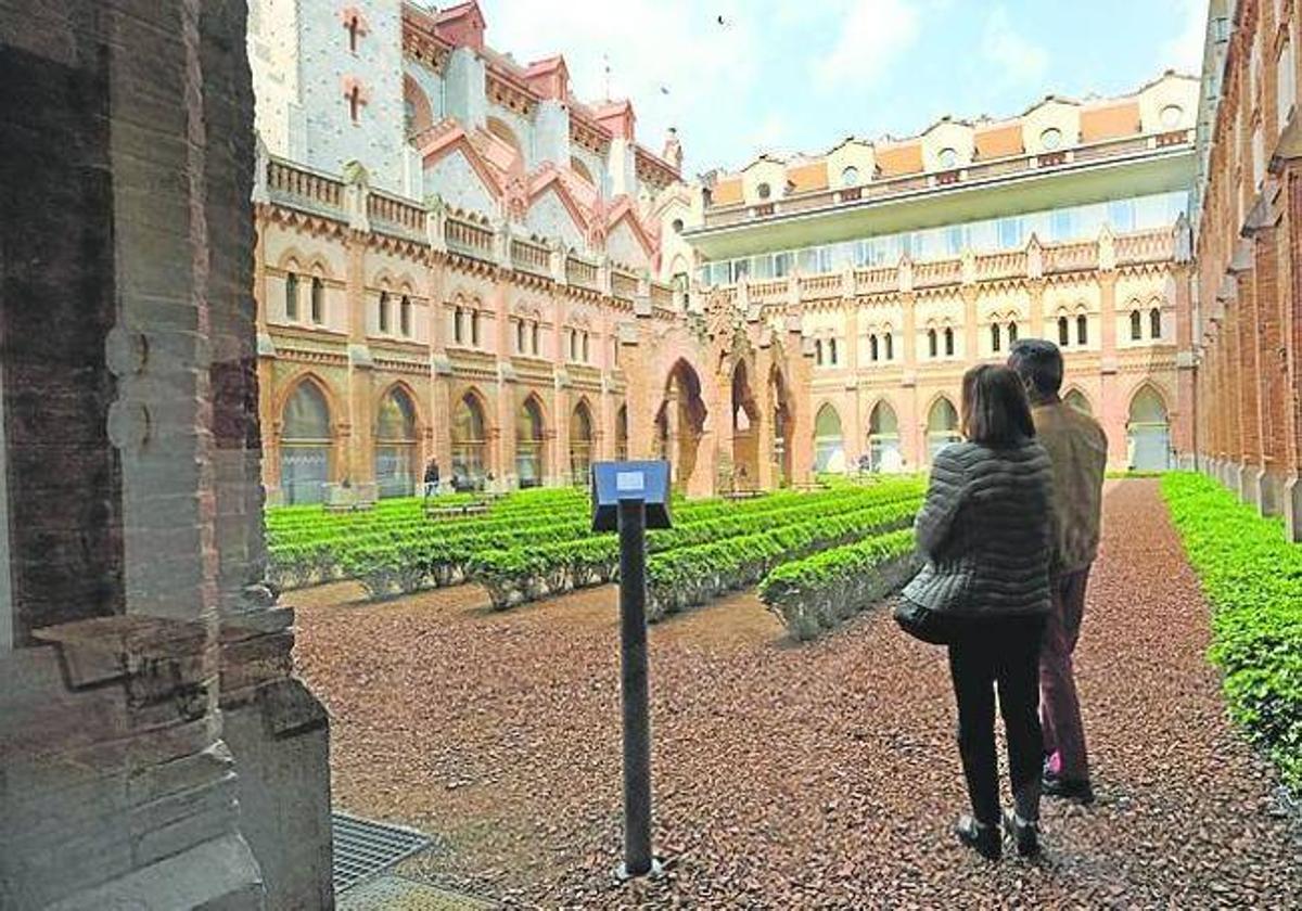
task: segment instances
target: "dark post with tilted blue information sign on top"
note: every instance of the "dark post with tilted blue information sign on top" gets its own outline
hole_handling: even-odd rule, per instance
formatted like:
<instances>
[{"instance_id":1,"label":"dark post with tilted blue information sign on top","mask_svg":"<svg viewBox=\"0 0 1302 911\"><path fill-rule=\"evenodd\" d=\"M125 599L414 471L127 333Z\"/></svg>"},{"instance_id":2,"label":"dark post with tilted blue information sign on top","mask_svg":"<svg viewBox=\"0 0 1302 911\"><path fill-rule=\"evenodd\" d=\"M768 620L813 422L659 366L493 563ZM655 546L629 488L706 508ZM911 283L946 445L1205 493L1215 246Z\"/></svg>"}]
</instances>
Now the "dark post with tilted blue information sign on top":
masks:
<instances>
[{"instance_id":1,"label":"dark post with tilted blue information sign on top","mask_svg":"<svg viewBox=\"0 0 1302 911\"><path fill-rule=\"evenodd\" d=\"M669 527L668 462L592 466L592 530L620 532L620 695L624 705L624 863L620 878L656 875L651 854L651 712L647 682L646 530Z\"/></svg>"}]
</instances>

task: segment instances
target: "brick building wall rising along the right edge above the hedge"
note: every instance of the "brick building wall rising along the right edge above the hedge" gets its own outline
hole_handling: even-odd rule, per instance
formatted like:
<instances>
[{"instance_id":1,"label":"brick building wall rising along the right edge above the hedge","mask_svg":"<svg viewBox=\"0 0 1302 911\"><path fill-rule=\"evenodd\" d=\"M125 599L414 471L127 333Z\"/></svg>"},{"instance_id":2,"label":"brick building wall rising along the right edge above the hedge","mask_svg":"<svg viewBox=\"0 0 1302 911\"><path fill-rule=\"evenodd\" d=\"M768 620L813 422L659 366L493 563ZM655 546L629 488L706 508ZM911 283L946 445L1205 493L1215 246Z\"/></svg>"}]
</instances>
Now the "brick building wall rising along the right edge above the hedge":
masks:
<instances>
[{"instance_id":1,"label":"brick building wall rising along the right edge above the hedge","mask_svg":"<svg viewBox=\"0 0 1302 911\"><path fill-rule=\"evenodd\" d=\"M1297 5L1211 4L1193 189L1197 466L1302 540ZM1189 467L1194 467L1190 465Z\"/></svg>"}]
</instances>

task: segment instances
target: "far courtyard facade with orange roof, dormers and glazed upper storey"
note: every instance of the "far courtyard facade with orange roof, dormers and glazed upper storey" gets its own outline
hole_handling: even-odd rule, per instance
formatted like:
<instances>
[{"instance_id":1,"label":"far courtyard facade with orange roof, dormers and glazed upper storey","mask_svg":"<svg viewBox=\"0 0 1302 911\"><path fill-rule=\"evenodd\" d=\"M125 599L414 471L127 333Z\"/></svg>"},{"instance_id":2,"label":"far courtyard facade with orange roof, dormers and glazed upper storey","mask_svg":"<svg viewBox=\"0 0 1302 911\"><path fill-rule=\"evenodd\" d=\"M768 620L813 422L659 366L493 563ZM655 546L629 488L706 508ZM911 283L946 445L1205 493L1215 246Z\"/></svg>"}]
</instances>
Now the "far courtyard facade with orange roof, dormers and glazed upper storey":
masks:
<instances>
[{"instance_id":1,"label":"far courtyard facade with orange roof, dormers and glazed upper storey","mask_svg":"<svg viewBox=\"0 0 1302 911\"><path fill-rule=\"evenodd\" d=\"M1115 469L1193 450L1187 186L1198 81L1046 98L1006 120L849 138L713 173L700 258L708 312L798 315L811 349L815 469L915 471L958 439L960 381L1019 337L1060 345L1064 394Z\"/></svg>"}]
</instances>

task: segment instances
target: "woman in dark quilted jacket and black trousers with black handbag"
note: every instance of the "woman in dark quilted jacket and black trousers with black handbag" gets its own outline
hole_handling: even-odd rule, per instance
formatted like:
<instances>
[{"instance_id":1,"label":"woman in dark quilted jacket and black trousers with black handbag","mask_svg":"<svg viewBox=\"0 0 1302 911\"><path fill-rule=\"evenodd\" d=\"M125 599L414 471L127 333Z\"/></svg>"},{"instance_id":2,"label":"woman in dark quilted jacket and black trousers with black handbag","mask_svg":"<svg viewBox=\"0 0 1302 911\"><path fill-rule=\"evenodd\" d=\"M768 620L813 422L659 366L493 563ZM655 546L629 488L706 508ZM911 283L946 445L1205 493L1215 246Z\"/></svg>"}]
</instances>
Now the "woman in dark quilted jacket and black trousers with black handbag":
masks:
<instances>
[{"instance_id":1,"label":"woman in dark quilted jacket and black trousers with black handbag","mask_svg":"<svg viewBox=\"0 0 1302 911\"><path fill-rule=\"evenodd\" d=\"M1003 851L1000 823L1018 854L1039 850L1043 742L1036 713L1040 636L1049 610L1052 469L1035 441L1026 393L1006 367L963 376L963 442L932 459L918 513L922 571L896 617L909 632L949 646L958 704L958 752L971 816L958 841L986 858ZM1001 819L995 692L1008 739L1014 811Z\"/></svg>"}]
</instances>

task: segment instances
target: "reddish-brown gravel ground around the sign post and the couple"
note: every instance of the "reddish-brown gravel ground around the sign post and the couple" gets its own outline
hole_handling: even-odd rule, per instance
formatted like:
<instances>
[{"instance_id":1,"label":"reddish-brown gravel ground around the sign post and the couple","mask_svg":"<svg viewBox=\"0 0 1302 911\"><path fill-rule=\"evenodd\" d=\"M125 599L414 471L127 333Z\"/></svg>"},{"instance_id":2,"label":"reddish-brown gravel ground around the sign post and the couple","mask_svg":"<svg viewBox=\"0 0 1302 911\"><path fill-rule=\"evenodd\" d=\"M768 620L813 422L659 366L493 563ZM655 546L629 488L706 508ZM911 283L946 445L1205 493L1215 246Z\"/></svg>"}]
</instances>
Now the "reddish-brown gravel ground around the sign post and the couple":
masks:
<instances>
[{"instance_id":1,"label":"reddish-brown gravel ground around the sign post and the couple","mask_svg":"<svg viewBox=\"0 0 1302 911\"><path fill-rule=\"evenodd\" d=\"M314 605L297 657L333 717L336 800L437 833L405 873L512 904L1302 907L1302 830L1225 720L1157 485L1116 484L1105 509L1077 672L1099 800L1047 802L1035 864L950 842L965 796L940 649L885 610L794 646L750 595L651 631L658 882L611 876L613 588L505 614L470 586L290 597Z\"/></svg>"}]
</instances>

